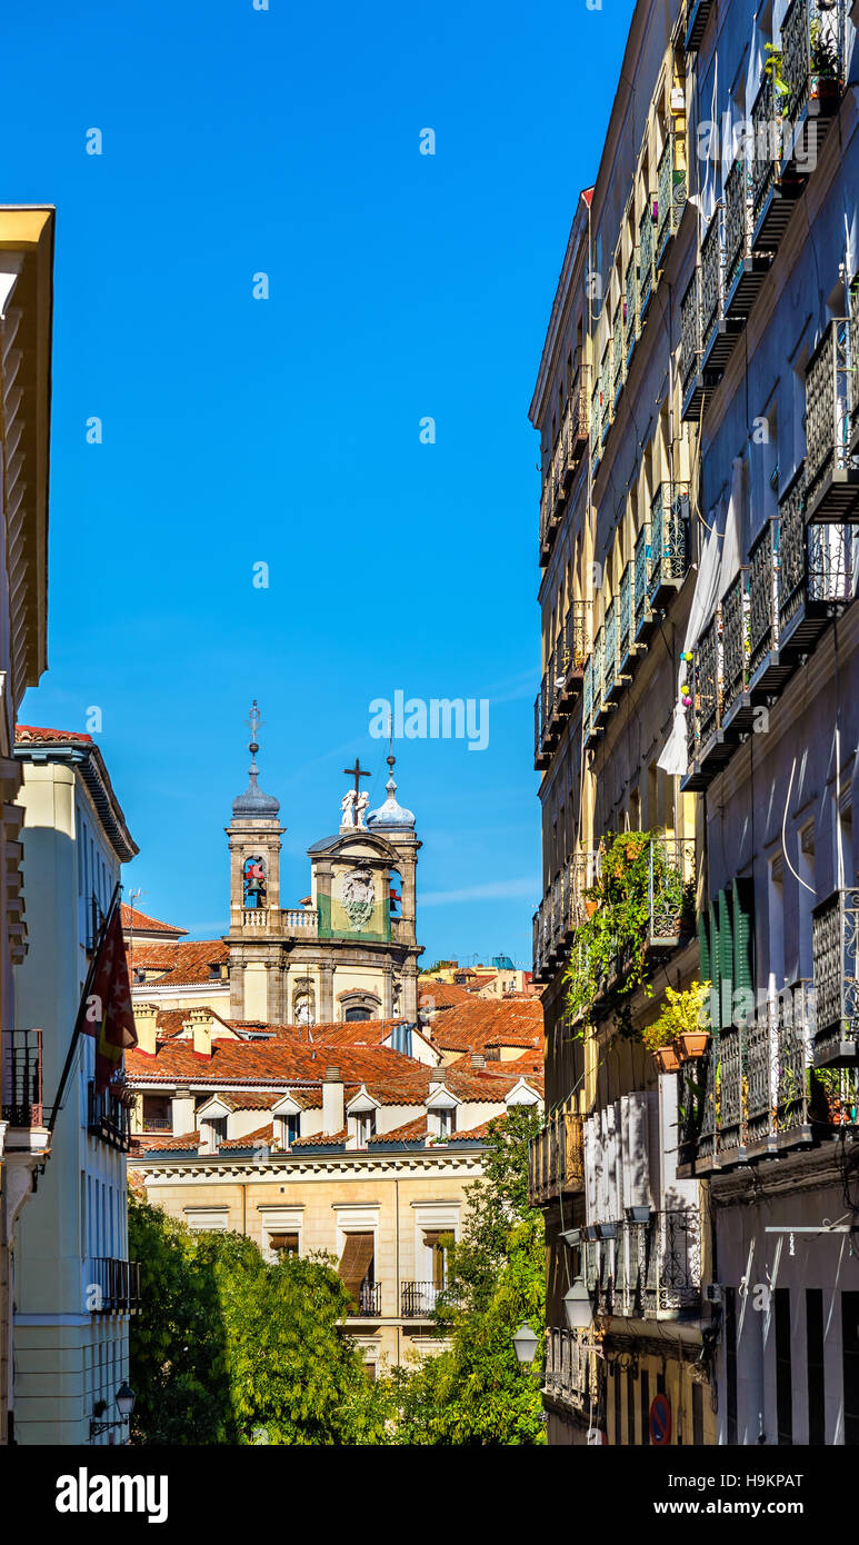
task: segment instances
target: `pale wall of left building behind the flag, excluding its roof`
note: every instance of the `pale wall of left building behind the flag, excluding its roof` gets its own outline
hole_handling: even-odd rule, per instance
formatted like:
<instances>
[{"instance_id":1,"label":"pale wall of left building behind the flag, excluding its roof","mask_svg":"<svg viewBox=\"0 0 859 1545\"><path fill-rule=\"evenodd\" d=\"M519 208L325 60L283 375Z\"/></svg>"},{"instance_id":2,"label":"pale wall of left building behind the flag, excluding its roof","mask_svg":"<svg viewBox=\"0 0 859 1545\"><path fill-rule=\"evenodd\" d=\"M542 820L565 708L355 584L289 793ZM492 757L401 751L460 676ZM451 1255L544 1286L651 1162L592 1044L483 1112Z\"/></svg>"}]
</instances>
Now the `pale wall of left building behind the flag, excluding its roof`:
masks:
<instances>
[{"instance_id":1,"label":"pale wall of left building behind the flag, excluding its roof","mask_svg":"<svg viewBox=\"0 0 859 1545\"><path fill-rule=\"evenodd\" d=\"M94 891L107 910L119 864L68 765L25 763L22 803L31 938L17 993L26 1023L45 1032L53 1098L87 976L85 899ZM93 1074L94 1040L82 1037L51 1163L19 1228L15 1432L25 1445L88 1443L93 1403L104 1400L113 1420L116 1389L128 1377L127 1316L88 1309L90 1262L128 1256L124 1156L87 1131Z\"/></svg>"}]
</instances>

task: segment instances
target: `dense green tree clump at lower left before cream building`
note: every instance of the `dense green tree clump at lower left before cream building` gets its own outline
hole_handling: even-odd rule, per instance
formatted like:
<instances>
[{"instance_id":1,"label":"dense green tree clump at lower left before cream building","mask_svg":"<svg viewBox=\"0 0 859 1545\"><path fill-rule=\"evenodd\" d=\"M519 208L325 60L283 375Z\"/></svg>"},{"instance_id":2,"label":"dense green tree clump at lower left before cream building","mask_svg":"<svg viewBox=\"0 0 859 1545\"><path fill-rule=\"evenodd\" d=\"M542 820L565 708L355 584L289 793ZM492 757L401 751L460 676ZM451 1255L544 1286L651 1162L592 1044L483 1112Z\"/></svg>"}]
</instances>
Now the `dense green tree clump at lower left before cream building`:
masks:
<instances>
[{"instance_id":1,"label":"dense green tree clump at lower left before cream building","mask_svg":"<svg viewBox=\"0 0 859 1545\"><path fill-rule=\"evenodd\" d=\"M385 1412L338 1326L348 1295L324 1258L263 1259L243 1234L193 1234L130 1199L142 1309L131 1326L138 1443L351 1445Z\"/></svg>"}]
</instances>

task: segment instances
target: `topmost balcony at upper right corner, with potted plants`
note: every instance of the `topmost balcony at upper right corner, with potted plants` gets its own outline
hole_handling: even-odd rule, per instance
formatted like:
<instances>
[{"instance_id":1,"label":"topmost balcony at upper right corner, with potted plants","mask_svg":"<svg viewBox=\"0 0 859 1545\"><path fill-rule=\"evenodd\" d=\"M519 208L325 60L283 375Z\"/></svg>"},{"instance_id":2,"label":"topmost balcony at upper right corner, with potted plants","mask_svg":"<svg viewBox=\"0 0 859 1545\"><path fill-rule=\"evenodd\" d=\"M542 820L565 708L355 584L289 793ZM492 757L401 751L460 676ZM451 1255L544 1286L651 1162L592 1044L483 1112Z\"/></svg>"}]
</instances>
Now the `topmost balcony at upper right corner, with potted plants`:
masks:
<instances>
[{"instance_id":1,"label":"topmost balcony at upper right corner, with potted plants","mask_svg":"<svg viewBox=\"0 0 859 1545\"><path fill-rule=\"evenodd\" d=\"M793 0L782 22L783 153L799 167L817 164L842 96L844 6Z\"/></svg>"}]
</instances>

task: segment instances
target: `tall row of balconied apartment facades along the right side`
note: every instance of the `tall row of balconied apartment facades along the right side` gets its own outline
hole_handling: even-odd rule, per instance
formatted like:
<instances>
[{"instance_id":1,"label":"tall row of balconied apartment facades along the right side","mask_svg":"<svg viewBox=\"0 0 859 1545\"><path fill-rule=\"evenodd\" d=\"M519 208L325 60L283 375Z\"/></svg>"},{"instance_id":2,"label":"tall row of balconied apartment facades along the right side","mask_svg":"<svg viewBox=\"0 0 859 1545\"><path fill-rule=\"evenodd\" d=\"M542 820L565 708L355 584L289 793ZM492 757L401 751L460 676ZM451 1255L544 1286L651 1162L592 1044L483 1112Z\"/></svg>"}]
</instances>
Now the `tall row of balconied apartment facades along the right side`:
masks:
<instances>
[{"instance_id":1,"label":"tall row of balconied apartment facades along the right side","mask_svg":"<svg viewBox=\"0 0 859 1545\"><path fill-rule=\"evenodd\" d=\"M637 6L531 408L550 1441L859 1431L853 22ZM618 831L650 879L582 1014Z\"/></svg>"}]
</instances>

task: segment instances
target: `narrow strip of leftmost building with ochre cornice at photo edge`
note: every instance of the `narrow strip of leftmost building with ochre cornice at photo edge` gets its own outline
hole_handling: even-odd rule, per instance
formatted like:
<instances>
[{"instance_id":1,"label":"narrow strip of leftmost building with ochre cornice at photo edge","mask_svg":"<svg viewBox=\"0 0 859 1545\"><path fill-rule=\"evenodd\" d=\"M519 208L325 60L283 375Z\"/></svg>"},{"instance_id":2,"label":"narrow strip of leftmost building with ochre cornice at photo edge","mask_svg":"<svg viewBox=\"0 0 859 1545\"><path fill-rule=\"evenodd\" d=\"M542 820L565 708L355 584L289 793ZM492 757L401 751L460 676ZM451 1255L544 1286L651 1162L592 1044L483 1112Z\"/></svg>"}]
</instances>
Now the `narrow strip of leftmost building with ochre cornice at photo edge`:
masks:
<instances>
[{"instance_id":1,"label":"narrow strip of leftmost building with ochre cornice at photo edge","mask_svg":"<svg viewBox=\"0 0 859 1545\"><path fill-rule=\"evenodd\" d=\"M46 666L54 212L0 209L0 1443L14 1441L15 1230L49 1154L26 955L15 714Z\"/></svg>"}]
</instances>

